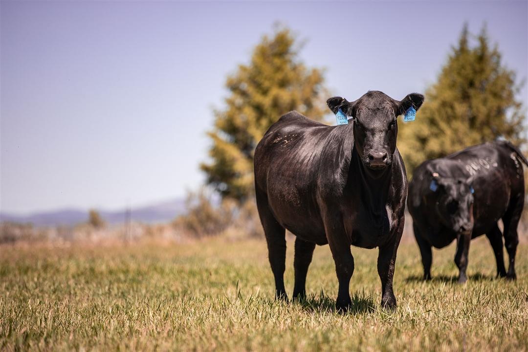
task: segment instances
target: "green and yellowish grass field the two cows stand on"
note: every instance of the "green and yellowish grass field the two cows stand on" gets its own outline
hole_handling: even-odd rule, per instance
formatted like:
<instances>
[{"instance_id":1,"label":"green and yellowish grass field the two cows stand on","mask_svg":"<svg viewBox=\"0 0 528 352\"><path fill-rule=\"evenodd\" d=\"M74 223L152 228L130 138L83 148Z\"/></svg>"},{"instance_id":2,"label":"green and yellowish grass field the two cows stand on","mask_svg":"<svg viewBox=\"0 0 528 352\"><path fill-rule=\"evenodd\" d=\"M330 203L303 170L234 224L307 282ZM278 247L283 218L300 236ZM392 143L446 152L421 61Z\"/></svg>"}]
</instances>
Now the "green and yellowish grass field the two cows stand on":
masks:
<instances>
[{"instance_id":1,"label":"green and yellowish grass field the two cows stand on","mask_svg":"<svg viewBox=\"0 0 528 352\"><path fill-rule=\"evenodd\" d=\"M293 290L293 242L286 283ZM1 350L526 350L528 245L516 282L495 279L485 238L472 242L460 286L454 246L420 280L416 244L398 251L398 308L379 306L377 250L353 248L353 307L334 310L337 279L318 247L304 302L274 301L266 244L0 247Z\"/></svg>"}]
</instances>

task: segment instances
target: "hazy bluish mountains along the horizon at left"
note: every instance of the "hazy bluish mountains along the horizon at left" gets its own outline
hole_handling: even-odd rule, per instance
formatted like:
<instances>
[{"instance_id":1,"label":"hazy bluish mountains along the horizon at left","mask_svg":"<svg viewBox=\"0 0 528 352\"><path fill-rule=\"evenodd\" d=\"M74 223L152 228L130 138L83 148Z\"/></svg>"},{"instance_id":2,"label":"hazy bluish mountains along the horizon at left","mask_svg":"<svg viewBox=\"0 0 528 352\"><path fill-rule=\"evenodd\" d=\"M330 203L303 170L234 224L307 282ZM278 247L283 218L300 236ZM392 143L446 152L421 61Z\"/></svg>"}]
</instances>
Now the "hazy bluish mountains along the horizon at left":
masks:
<instances>
[{"instance_id":1,"label":"hazy bluish mountains along the horizon at left","mask_svg":"<svg viewBox=\"0 0 528 352\"><path fill-rule=\"evenodd\" d=\"M117 211L98 210L99 214L109 224L125 221L125 209ZM132 221L142 223L163 223L173 220L183 214L185 203L177 198L171 201L130 208ZM12 221L16 223L32 223L35 226L75 225L88 221L88 210L62 209L49 212L37 212L30 215L16 215L0 213L0 222Z\"/></svg>"}]
</instances>

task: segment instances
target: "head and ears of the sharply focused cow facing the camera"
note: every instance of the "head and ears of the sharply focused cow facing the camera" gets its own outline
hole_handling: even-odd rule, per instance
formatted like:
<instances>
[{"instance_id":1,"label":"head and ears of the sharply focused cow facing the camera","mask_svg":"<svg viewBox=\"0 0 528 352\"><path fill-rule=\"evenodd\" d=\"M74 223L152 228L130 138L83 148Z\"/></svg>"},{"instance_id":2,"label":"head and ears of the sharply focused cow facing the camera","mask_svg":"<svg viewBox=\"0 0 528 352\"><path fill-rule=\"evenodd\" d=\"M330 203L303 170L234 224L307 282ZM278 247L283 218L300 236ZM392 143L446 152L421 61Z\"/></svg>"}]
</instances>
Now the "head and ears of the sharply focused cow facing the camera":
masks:
<instances>
[{"instance_id":1,"label":"head and ears of the sharply focused cow facing the camera","mask_svg":"<svg viewBox=\"0 0 528 352\"><path fill-rule=\"evenodd\" d=\"M398 101L379 91L369 91L353 102L341 97L326 101L334 113L341 109L352 117L354 147L363 164L375 170L385 169L392 163L398 135L397 117L411 106L418 110L422 102L422 94L408 94Z\"/></svg>"}]
</instances>

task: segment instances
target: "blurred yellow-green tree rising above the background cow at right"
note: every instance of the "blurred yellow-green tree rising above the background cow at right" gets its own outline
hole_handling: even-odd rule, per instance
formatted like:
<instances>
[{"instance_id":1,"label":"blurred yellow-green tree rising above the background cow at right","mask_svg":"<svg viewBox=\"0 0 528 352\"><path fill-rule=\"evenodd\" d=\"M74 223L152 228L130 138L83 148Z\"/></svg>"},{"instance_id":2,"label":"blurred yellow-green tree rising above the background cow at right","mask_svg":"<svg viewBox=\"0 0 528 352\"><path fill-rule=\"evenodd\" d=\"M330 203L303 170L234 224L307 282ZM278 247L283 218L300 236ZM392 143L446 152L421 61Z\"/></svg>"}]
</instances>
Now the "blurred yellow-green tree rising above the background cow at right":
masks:
<instances>
[{"instance_id":1,"label":"blurred yellow-green tree rising above the background cow at right","mask_svg":"<svg viewBox=\"0 0 528 352\"><path fill-rule=\"evenodd\" d=\"M522 84L502 64L497 45L489 47L485 28L474 47L469 37L465 25L416 121L400 124L398 148L409 175L423 160L497 137L524 143L524 112L515 97Z\"/></svg>"}]
</instances>

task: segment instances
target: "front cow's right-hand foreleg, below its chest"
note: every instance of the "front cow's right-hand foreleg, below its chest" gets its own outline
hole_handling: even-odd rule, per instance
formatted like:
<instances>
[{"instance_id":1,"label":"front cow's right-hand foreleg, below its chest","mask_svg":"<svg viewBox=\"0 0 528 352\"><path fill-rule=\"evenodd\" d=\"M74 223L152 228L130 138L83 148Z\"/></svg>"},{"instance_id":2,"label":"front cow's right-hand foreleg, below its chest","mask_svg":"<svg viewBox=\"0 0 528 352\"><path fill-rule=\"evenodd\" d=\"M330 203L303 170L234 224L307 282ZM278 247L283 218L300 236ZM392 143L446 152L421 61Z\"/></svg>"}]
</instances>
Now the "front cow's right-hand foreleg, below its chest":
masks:
<instances>
[{"instance_id":1,"label":"front cow's right-hand foreleg, below its chest","mask_svg":"<svg viewBox=\"0 0 528 352\"><path fill-rule=\"evenodd\" d=\"M403 233L404 218L402 217L396 227L392 240L380 246L378 255L378 274L381 279L381 306L386 309L396 308L396 297L392 289L392 279L394 277L394 264L396 263L396 252L400 245Z\"/></svg>"}]
</instances>

